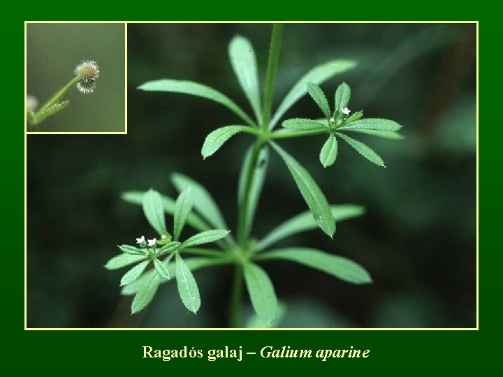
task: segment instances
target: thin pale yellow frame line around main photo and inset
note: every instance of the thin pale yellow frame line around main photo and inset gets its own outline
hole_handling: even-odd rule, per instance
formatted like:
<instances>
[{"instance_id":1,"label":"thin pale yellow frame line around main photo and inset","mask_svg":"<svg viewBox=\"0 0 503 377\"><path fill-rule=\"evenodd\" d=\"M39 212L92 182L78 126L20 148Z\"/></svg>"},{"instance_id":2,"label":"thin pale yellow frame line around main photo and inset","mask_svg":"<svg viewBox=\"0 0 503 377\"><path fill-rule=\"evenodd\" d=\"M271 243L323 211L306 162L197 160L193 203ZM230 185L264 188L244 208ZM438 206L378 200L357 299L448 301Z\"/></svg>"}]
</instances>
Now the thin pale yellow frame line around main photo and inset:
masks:
<instances>
[{"instance_id":1,"label":"thin pale yellow frame line around main photo and inset","mask_svg":"<svg viewBox=\"0 0 503 377\"><path fill-rule=\"evenodd\" d=\"M26 94L26 67L27 67L27 23L55 23L55 24L108 24L124 23L126 28L126 132L127 133L127 25L128 24L270 24L274 21L26 21L24 22L24 92ZM342 327L342 328L170 328L170 327L27 327L27 131L26 131L26 111L24 112L24 330L27 331L474 331L479 330L479 21L280 21L285 24L476 24L476 327ZM24 108L26 109L26 96L24 98ZM125 133L119 133L124 135ZM92 133L65 133L65 132L29 132L29 134L92 134ZM117 134L94 133L94 134Z\"/></svg>"}]
</instances>

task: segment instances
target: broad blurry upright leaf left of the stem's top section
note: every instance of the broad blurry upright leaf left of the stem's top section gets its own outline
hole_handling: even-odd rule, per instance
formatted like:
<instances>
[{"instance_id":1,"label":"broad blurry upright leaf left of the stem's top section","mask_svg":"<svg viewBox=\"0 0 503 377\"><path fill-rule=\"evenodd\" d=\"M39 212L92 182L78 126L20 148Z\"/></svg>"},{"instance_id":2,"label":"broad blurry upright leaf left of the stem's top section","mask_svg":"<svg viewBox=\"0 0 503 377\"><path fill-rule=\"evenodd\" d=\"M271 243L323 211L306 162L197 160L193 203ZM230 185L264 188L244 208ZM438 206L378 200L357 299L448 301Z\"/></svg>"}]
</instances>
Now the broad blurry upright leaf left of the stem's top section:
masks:
<instances>
[{"instance_id":1,"label":"broad blurry upright leaf left of the stem's top section","mask_svg":"<svg viewBox=\"0 0 503 377\"><path fill-rule=\"evenodd\" d=\"M260 89L254 48L247 38L235 36L228 47L234 73L254 110L258 121L262 119Z\"/></svg>"}]
</instances>

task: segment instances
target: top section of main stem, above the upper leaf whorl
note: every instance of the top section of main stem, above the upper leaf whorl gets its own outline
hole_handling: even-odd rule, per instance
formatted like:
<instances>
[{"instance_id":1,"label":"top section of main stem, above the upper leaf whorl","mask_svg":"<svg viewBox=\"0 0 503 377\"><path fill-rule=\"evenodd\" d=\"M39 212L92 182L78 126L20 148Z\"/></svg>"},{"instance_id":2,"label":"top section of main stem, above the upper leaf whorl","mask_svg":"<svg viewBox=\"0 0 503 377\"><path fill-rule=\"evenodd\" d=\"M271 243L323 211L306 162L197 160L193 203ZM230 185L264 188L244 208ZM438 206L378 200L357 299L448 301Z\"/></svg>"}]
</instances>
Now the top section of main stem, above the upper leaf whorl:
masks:
<instances>
[{"instance_id":1,"label":"top section of main stem, above the upper leaf whorl","mask_svg":"<svg viewBox=\"0 0 503 377\"><path fill-rule=\"evenodd\" d=\"M268 68L265 75L265 90L262 112L262 130L268 131L269 121L272 110L272 94L276 81L277 64L279 60L279 50L283 36L283 24L274 24L272 26L271 45L269 49Z\"/></svg>"}]
</instances>

